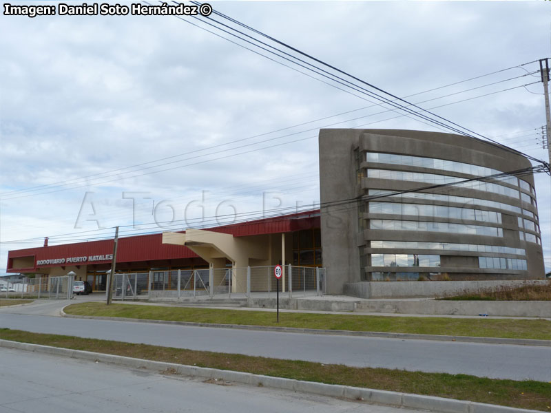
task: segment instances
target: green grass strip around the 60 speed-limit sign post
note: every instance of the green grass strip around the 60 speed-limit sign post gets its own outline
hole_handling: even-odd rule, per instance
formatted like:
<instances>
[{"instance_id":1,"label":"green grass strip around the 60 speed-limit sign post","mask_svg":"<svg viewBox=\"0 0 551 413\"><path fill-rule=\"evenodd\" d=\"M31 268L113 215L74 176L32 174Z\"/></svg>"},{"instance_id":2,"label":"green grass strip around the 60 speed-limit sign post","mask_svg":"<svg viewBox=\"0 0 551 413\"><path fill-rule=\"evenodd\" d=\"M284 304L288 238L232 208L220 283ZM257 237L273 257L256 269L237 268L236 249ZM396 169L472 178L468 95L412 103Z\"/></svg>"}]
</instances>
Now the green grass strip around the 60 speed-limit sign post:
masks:
<instances>
[{"instance_id":1,"label":"green grass strip around the 60 speed-limit sign post","mask_svg":"<svg viewBox=\"0 0 551 413\"><path fill-rule=\"evenodd\" d=\"M509 339L551 339L551 321L545 319L459 319L450 317L384 317L314 313L275 313L218 308L140 306L103 303L72 304L72 315L126 317L147 320L191 321L196 323L281 326L324 330L404 332L410 334L498 337Z\"/></svg>"}]
</instances>

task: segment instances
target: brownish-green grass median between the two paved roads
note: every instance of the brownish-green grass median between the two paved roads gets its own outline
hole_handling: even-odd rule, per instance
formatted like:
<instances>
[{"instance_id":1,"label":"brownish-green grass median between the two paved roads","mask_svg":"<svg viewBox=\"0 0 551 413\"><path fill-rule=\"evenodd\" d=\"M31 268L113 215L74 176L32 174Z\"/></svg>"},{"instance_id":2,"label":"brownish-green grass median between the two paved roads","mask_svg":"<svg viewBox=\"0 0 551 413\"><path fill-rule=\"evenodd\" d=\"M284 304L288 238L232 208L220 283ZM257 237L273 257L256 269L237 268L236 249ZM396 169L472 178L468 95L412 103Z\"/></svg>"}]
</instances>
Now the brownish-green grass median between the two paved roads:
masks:
<instances>
[{"instance_id":1,"label":"brownish-green grass median between the two paved roads","mask_svg":"<svg viewBox=\"0 0 551 413\"><path fill-rule=\"evenodd\" d=\"M241 354L183 350L145 344L121 343L119 341L83 339L65 335L39 334L7 328L0 329L0 338L188 366L235 370L272 377L426 394L545 412L551 411L551 383L541 381L497 380L467 374L407 372L384 368L351 368L310 361L269 359L267 357L251 357Z\"/></svg>"}]
</instances>

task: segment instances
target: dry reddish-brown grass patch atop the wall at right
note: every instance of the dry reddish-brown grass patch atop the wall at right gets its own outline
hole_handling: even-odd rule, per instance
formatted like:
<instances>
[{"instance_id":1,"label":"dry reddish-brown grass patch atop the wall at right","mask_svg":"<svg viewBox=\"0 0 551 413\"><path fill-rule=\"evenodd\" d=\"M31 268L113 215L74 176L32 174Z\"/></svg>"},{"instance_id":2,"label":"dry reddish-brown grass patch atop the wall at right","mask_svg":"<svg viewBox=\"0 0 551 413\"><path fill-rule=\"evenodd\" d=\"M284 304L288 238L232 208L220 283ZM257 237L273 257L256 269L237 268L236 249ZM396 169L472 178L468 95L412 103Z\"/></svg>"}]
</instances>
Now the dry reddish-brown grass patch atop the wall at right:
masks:
<instances>
[{"instance_id":1,"label":"dry reddish-brown grass patch atop the wall at right","mask_svg":"<svg viewBox=\"0 0 551 413\"><path fill-rule=\"evenodd\" d=\"M517 288L499 287L496 290L481 291L476 294L465 293L448 300L488 300L488 301L551 301L551 281L545 285L527 284Z\"/></svg>"}]
</instances>

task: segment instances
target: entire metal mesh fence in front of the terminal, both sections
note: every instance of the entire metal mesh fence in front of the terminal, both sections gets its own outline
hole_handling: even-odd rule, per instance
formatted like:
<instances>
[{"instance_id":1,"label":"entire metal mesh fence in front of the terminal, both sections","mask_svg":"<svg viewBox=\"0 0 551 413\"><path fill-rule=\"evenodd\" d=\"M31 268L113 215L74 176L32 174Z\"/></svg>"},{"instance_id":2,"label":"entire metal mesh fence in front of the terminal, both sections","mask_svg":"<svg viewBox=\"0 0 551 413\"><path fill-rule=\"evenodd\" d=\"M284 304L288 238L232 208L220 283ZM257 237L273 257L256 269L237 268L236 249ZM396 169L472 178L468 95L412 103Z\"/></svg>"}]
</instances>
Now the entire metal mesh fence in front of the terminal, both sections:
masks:
<instances>
[{"instance_id":1,"label":"entire metal mesh fence in front of the terminal, both sections","mask_svg":"<svg viewBox=\"0 0 551 413\"><path fill-rule=\"evenodd\" d=\"M154 297L275 297L275 266L202 268L197 270L118 273L113 278L113 299ZM70 299L74 277L23 278L0 284L0 297ZM324 295L325 268L286 265L279 282L282 297Z\"/></svg>"}]
</instances>

